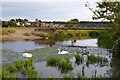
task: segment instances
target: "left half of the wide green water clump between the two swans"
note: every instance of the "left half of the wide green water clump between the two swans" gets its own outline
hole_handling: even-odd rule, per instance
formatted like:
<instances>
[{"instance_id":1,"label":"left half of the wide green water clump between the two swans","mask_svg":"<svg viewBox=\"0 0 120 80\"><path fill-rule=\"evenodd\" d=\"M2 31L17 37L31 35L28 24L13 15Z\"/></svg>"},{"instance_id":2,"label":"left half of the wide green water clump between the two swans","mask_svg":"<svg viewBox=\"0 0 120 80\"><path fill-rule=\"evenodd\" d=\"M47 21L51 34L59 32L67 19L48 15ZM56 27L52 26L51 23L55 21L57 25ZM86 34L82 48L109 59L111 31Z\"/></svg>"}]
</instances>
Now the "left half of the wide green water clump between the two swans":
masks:
<instances>
[{"instance_id":1,"label":"left half of the wide green water clump between the two swans","mask_svg":"<svg viewBox=\"0 0 120 80\"><path fill-rule=\"evenodd\" d=\"M47 58L47 65L48 66L58 66L59 63L60 63L59 57L51 56L51 57Z\"/></svg>"}]
</instances>

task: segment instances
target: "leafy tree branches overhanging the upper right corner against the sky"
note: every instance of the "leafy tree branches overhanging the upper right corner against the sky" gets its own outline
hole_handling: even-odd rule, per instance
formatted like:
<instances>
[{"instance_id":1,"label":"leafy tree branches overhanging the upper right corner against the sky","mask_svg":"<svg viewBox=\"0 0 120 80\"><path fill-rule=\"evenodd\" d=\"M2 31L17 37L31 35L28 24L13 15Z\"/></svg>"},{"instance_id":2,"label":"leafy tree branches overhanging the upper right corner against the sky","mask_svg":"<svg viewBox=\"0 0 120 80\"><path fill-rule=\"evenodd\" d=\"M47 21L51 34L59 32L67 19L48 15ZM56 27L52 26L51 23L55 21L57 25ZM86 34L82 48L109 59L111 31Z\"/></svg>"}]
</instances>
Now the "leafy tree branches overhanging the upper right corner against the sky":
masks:
<instances>
[{"instance_id":1,"label":"leafy tree branches overhanging the upper right corner against the sky","mask_svg":"<svg viewBox=\"0 0 120 80\"><path fill-rule=\"evenodd\" d=\"M86 3L85 6L94 13L93 19L109 20L114 31L113 35L120 35L120 2L117 0L97 2L94 10L89 3Z\"/></svg>"}]
</instances>

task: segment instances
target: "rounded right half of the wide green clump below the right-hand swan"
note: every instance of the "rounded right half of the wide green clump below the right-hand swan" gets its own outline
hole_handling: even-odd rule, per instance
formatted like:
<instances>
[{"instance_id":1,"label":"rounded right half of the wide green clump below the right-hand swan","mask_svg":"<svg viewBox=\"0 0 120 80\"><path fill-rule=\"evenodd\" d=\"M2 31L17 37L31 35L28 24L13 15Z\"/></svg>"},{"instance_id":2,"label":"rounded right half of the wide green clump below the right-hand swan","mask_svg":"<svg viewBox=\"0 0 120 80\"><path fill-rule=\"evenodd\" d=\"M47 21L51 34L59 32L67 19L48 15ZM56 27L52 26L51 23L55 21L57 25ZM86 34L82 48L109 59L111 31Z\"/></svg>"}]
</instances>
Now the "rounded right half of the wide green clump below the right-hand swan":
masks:
<instances>
[{"instance_id":1,"label":"rounded right half of the wide green clump below the right-hand swan","mask_svg":"<svg viewBox=\"0 0 120 80\"><path fill-rule=\"evenodd\" d=\"M61 60L58 67L61 69L62 72L66 72L73 69L72 63L67 59Z\"/></svg>"}]
</instances>

